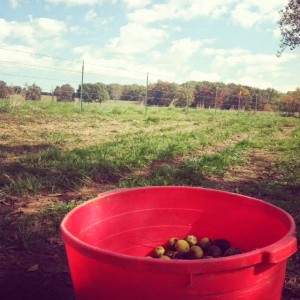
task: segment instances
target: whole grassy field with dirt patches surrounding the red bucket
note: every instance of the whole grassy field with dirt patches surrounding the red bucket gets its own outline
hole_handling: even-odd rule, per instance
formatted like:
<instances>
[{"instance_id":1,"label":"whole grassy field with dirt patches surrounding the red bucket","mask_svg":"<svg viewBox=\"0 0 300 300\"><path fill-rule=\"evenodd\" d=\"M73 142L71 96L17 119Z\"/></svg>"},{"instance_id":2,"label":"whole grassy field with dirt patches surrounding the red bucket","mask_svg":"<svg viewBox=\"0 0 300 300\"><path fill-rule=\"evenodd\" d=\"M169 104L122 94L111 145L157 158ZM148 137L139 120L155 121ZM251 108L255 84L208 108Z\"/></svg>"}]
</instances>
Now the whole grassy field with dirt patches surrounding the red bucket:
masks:
<instances>
[{"instance_id":1,"label":"whole grassy field with dirt patches surrounding the red bucket","mask_svg":"<svg viewBox=\"0 0 300 300\"><path fill-rule=\"evenodd\" d=\"M60 221L78 203L118 187L238 192L285 209L300 231L299 118L145 111L118 101L84 104L80 114L74 103L1 100L0 162L4 299L72 299ZM290 259L283 299L298 299L299 264L298 252Z\"/></svg>"}]
</instances>

